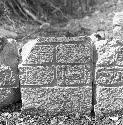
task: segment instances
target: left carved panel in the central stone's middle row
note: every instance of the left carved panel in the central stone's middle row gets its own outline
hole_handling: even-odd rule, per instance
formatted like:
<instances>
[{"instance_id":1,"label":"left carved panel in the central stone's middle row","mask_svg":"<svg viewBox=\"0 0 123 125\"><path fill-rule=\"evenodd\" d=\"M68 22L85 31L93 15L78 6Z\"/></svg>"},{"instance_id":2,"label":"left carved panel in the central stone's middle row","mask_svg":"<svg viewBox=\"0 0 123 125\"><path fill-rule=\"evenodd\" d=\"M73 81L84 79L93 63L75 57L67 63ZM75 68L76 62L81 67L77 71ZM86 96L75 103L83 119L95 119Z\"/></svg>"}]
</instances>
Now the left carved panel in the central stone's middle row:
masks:
<instances>
[{"instance_id":1,"label":"left carved panel in the central stone's middle row","mask_svg":"<svg viewBox=\"0 0 123 125\"><path fill-rule=\"evenodd\" d=\"M44 66L26 66L20 68L21 85L52 86L54 68Z\"/></svg>"}]
</instances>

